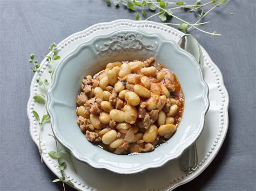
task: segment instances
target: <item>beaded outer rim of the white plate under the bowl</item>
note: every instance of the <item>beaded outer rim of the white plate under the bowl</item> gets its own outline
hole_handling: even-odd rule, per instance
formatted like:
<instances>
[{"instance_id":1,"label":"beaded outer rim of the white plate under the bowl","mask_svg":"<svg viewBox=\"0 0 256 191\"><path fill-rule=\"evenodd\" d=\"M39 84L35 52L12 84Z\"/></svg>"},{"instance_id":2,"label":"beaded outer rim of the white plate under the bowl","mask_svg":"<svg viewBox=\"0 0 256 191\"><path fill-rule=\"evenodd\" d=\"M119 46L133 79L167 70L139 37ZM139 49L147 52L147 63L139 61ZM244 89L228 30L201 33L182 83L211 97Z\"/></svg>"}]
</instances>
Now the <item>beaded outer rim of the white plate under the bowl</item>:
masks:
<instances>
[{"instance_id":1,"label":"beaded outer rim of the white plate under the bowl","mask_svg":"<svg viewBox=\"0 0 256 191\"><path fill-rule=\"evenodd\" d=\"M92 31L93 29L96 29L96 31L97 31L100 28L105 29L106 26L107 27L111 26L111 28L112 28L115 25L118 25L118 24L121 25L121 23L128 23L129 24L129 26L127 26L128 28L137 28L136 25L138 25L138 24L140 24L141 26L144 25L145 28L148 28L149 25L154 25L154 26L158 27L158 30L160 28L160 30L163 31L164 33L166 33L166 35L167 35L167 31L168 31L170 33L170 35L172 35L173 39L176 38L175 36L181 37L181 35L184 35L183 32L180 32L177 29L172 28L171 26L166 26L166 25L163 25L163 24L160 24L160 23L156 23L156 22L151 22L151 21L133 21L133 20L130 20L130 19L117 19L117 20L114 20L114 21L111 21L111 22L97 23L97 24L89 26L88 28L86 28L86 29L84 29L82 31L73 33L72 35L66 37L64 40L62 40L58 44L58 50L61 51L62 49L64 49L64 47L66 45L68 45L70 43L70 41L72 42L73 38L76 37L76 35L78 35L78 34L79 34L79 38L82 35L83 35L83 37L85 37L85 35L90 33L90 31ZM140 27L140 26L138 26L138 27ZM160 30L159 30L159 32L160 32ZM87 32L87 33L85 33L85 32ZM77 39L77 38L75 38L75 39ZM216 74L216 79L215 80L217 80L217 88L218 88L218 90L221 93L224 93L224 96L225 96L222 99L222 101L221 101L222 103L221 103L221 108L220 108L220 110L224 114L223 117L222 117L223 119L220 120L221 125L219 125L219 128L218 128L219 130L216 129L216 131L219 132L219 133L218 133L217 137L215 138L215 140L218 140L218 142L215 145L214 145L214 142L213 142L212 146L214 146L213 147L214 149L210 149L207 152L208 153L207 156L205 155L205 159L202 160L199 163L199 166L194 171L194 173L192 173L190 175L187 175L187 177L185 179L177 178L177 179L173 179L173 181L170 180L169 184L164 185L164 187L162 187L163 190L166 190L166 189L170 190L170 189L177 188L178 186L184 185L185 183L190 182L194 178L197 178L197 176L199 176L211 164L211 162L214 160L215 156L218 154L221 146L223 145L223 142L225 140L225 137L226 137L226 134L227 134L227 131L228 131L229 97L228 97L228 92L227 92L225 84L224 84L223 74L221 73L219 67L212 61L211 57L209 56L209 54L206 52L206 50L202 46L201 46L201 49L203 50L204 58L206 57L207 65L209 65L208 67L210 67L210 68L212 67L212 70L214 71L213 73ZM50 55L51 54L48 53L48 56L50 56ZM46 65L45 61L46 61L45 59L42 60L41 67ZM27 104L27 116L28 116L28 119L29 119L30 137L33 140L33 142L35 143L35 145L38 147L38 137L36 137L35 131L32 133L32 129L36 128L36 124L33 121L34 117L31 114L33 103L35 103L35 101L33 101L33 95L36 94L36 90L34 89L34 86L37 87L37 85L35 83L36 77L37 77L37 74L35 74L33 76L32 80L31 80L30 96L29 96L28 104ZM48 162L48 160L46 160L47 155L46 155L46 158L45 158L45 155L43 155L43 160L44 160L45 164L50 168L50 170L52 171L53 174L55 174L56 176L59 176L59 172L57 172L55 167L53 167L53 165L50 164ZM203 163L205 163L205 164L203 165ZM68 176L68 177L70 177L70 176ZM86 186L86 185L83 185L83 184L82 184L82 186L79 186L79 185L80 185L80 183L78 183L78 185L74 184L74 186L71 186L71 187L76 188L76 189L85 189L85 188L86 189L93 189L93 187L90 187L90 186ZM162 188L159 187L158 189L161 190Z\"/></svg>"}]
</instances>

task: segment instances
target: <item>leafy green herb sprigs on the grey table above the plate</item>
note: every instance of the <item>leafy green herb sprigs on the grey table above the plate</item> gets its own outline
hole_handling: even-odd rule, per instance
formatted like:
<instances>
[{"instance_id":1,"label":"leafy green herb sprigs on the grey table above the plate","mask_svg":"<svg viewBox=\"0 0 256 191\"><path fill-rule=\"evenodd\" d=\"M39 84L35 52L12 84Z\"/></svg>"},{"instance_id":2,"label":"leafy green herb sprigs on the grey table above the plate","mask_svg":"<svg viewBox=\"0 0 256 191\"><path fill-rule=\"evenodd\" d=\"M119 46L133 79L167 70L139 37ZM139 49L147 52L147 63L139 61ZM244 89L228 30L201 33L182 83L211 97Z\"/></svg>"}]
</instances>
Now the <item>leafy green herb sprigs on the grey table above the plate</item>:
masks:
<instances>
[{"instance_id":1,"label":"leafy green herb sprigs on the grey table above the plate","mask_svg":"<svg viewBox=\"0 0 256 191\"><path fill-rule=\"evenodd\" d=\"M219 8L220 5L226 3L226 0L212 0L210 2L201 4L201 0L197 0L194 4L186 4L184 1L178 1L178 2L170 2L170 1L163 1L163 0L157 0L157 1L152 1L152 0L143 0L143 1L136 1L136 0L119 0L119 1L114 1L114 6L118 8L120 4L123 4L124 6L127 7L127 9L131 11L136 11L135 13L135 19L137 21L142 20L142 16L145 18L145 21L158 16L161 20L162 24L165 25L177 25L177 28L184 32L188 33L189 30L196 29L200 32L206 33L211 36L221 36L219 33L213 31L213 32L208 32L202 29L199 29L199 25L207 24L209 22L201 22L200 21L205 18L208 13L210 13L212 10L215 8ZM106 0L106 5L111 6L111 0ZM206 7L207 5L212 5L212 7L208 10L205 11L203 8ZM178 17L173 11L177 9L183 9L184 11L189 12L195 12L199 19L196 23L190 23L185 21L184 19ZM138 11L138 12L137 12ZM147 17L147 11L154 11L153 15ZM139 13L140 12L140 13ZM140 16L140 14L142 16ZM171 22L165 22L167 20L167 17L173 17L178 19L179 23L171 23Z\"/></svg>"}]
</instances>

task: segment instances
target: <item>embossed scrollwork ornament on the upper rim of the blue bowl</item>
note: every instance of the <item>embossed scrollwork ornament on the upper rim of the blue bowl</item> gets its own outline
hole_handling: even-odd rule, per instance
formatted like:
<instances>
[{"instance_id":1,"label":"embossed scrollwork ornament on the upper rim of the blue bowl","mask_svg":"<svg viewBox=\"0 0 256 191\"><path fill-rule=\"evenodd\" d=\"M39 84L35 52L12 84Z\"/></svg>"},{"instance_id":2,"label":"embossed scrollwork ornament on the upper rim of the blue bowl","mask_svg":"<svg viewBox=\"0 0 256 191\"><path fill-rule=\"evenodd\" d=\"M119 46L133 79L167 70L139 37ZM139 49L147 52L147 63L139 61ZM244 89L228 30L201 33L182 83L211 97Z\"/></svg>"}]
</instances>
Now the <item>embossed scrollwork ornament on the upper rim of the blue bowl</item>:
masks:
<instances>
[{"instance_id":1,"label":"embossed scrollwork ornament on the upper rim of the blue bowl","mask_svg":"<svg viewBox=\"0 0 256 191\"><path fill-rule=\"evenodd\" d=\"M147 44L142 41L142 35L137 35L136 33L126 33L116 35L110 38L109 42L104 43L104 46L96 45L99 52L110 53L112 50L119 52L125 51L136 51L140 49L146 50L156 50L158 43Z\"/></svg>"}]
</instances>

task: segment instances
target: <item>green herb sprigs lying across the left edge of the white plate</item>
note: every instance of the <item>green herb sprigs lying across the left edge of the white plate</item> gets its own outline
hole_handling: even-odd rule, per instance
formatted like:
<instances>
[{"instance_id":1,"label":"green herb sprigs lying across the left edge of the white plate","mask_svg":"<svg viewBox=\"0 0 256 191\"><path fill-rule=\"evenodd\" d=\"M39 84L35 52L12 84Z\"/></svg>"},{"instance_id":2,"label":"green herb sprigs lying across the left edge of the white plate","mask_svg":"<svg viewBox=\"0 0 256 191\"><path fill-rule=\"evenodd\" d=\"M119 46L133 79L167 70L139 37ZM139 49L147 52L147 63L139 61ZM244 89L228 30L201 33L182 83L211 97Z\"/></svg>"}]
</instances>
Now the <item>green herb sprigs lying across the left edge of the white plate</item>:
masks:
<instances>
[{"instance_id":1,"label":"green herb sprigs lying across the left edge of the white plate","mask_svg":"<svg viewBox=\"0 0 256 191\"><path fill-rule=\"evenodd\" d=\"M49 50L51 51L51 55L46 56L46 62L48 62L49 66L50 66L50 70L48 70L48 72L50 74L50 79L52 80L53 73L54 73L54 65L53 64L54 64L55 60L60 59L60 56L57 55L59 51L57 50L57 44L56 43L52 43L51 46L49 47ZM38 60L35 60L35 54L33 54L33 53L30 54L29 63L33 64L33 67L30 67L30 69L34 73L38 74L36 81L37 81L39 86L43 86L44 93L45 93L45 94L43 94L43 93L42 94L36 94L36 95L33 96L33 99L36 101L36 103L44 104L44 112L43 112L42 116L40 117L40 115L38 114L37 111L35 111L35 110L32 111L33 116L35 117L36 121L38 122L39 128L40 128L39 129L39 148L38 148L38 151L39 151L39 154L41 156L41 162L43 162L42 146L41 146L41 136L42 136L41 132L42 132L44 123L46 121L50 120L50 116L48 114L46 114L46 105L47 105L47 101L48 101L47 97L46 97L46 93L48 92L48 86L50 85L51 80L50 81L49 81L49 79L42 80L41 76L39 75L40 64L38 63ZM62 155L61 155L60 151L62 151L63 149L59 149L56 138L51 134L49 134L49 135L55 139L56 151L50 151L48 154L52 159L57 159L58 160L58 169L60 170L60 173L61 173L61 176L58 179L53 180L52 182L61 181L63 183L63 189L65 190L65 183L68 183L71 186L73 186L73 183L72 183L71 180L66 179L65 175L64 175L64 170L66 169L67 165L66 165L66 162L61 159ZM65 149L64 149L64 151L69 154L70 161L72 163L73 169L77 173L70 153L68 151L66 151Z\"/></svg>"}]
</instances>

